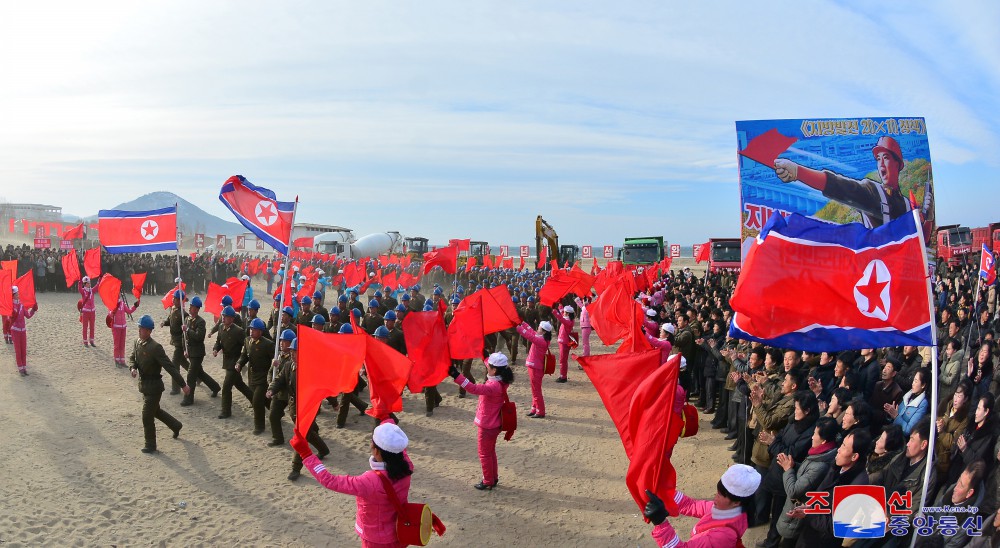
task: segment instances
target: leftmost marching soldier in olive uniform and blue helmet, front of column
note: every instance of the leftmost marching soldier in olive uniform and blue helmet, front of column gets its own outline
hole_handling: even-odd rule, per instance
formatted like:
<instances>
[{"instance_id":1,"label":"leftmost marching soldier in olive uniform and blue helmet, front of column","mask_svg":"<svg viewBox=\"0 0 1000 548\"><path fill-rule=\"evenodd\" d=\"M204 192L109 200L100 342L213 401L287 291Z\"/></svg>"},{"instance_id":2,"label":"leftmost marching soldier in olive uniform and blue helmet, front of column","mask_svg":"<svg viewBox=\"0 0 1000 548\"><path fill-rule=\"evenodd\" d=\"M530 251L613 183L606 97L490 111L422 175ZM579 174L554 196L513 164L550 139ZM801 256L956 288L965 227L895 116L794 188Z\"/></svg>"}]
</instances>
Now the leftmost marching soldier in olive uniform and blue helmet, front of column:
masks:
<instances>
[{"instance_id":1,"label":"leftmost marching soldier in olive uniform and blue helmet, front of column","mask_svg":"<svg viewBox=\"0 0 1000 548\"><path fill-rule=\"evenodd\" d=\"M153 327L156 322L153 317L146 315L139 318L139 338L132 345L132 354L129 355L129 371L132 378L139 378L139 392L142 394L142 430L146 437L146 445L142 448L143 453L156 452L156 423L154 419L159 419L167 425L174 433L174 438L180 435L181 422L175 419L170 413L160 409L160 397L163 396L163 376L160 374L166 369L167 373L174 379L184 394L187 395L189 388L184 382L184 377L169 359L167 353L163 351L163 346L154 341L151 337Z\"/></svg>"}]
</instances>

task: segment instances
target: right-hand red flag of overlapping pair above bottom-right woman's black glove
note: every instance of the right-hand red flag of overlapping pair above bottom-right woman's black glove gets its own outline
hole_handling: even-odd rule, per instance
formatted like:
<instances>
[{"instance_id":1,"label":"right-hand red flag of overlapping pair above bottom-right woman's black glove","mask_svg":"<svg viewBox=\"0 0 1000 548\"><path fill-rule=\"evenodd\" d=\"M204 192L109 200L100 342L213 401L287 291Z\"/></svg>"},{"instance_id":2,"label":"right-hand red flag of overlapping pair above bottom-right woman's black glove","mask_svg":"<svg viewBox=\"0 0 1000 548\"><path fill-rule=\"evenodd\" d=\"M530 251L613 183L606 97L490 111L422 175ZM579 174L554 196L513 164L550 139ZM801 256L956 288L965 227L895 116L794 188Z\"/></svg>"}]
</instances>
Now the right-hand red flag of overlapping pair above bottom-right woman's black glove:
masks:
<instances>
[{"instance_id":1,"label":"right-hand red flag of overlapping pair above bottom-right woman's black glove","mask_svg":"<svg viewBox=\"0 0 1000 548\"><path fill-rule=\"evenodd\" d=\"M651 351L650 353L655 353ZM646 489L662 498L674 515L677 473L670 463L674 445L680 437L682 418L674 409L680 354L645 377L635 389L629 404L628 429L632 439L625 484L639 508L649 502Z\"/></svg>"}]
</instances>

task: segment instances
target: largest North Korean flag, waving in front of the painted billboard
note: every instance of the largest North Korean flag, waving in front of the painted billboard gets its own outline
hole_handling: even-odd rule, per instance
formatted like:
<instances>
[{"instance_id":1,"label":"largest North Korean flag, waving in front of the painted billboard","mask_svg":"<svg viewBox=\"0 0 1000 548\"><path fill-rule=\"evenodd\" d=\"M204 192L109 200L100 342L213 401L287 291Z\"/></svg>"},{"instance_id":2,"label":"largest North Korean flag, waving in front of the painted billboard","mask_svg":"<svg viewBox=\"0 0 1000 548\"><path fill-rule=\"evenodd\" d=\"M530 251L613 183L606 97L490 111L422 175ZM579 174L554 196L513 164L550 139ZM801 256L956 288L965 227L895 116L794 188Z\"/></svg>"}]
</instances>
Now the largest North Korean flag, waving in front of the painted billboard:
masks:
<instances>
[{"instance_id":1,"label":"largest North Korean flag, waving in front of the painted billboard","mask_svg":"<svg viewBox=\"0 0 1000 548\"><path fill-rule=\"evenodd\" d=\"M917 212L869 230L771 217L747 253L729 333L812 352L931 346Z\"/></svg>"}]
</instances>

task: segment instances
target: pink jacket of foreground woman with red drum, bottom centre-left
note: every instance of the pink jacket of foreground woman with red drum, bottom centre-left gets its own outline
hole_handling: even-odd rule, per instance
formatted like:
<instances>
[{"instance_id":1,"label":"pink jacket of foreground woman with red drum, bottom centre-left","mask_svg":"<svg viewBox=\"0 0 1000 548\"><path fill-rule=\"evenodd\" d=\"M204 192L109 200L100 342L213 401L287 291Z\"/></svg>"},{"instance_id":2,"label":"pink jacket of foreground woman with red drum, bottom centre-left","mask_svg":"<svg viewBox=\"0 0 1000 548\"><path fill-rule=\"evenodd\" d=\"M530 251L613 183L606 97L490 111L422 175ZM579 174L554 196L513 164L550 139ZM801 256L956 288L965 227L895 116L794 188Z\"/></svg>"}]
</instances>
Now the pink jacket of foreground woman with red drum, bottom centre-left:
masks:
<instances>
[{"instance_id":1,"label":"pink jacket of foreground woman with red drum, bottom centre-left","mask_svg":"<svg viewBox=\"0 0 1000 548\"><path fill-rule=\"evenodd\" d=\"M396 509L374 470L360 476L337 476L328 472L316 455L309 455L302 464L327 489L356 497L358 513L354 518L354 530L358 532L358 536L378 544L399 542L396 538ZM393 487L399 502L406 504L410 493L410 476L396 480Z\"/></svg>"}]
</instances>

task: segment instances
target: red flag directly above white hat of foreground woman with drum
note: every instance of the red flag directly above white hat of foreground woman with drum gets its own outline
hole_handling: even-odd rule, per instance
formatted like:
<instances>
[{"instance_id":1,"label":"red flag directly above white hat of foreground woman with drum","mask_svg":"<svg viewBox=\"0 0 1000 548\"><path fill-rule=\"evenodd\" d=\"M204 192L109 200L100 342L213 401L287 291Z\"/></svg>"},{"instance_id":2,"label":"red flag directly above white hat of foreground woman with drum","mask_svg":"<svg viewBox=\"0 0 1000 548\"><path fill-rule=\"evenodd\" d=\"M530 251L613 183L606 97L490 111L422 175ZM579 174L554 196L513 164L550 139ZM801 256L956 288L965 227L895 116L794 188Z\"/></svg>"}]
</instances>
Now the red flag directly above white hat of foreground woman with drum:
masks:
<instances>
[{"instance_id":1,"label":"red flag directly above white hat of foreground woman with drum","mask_svg":"<svg viewBox=\"0 0 1000 548\"><path fill-rule=\"evenodd\" d=\"M364 337L367 344L365 370L368 371L368 391L372 402L366 413L384 419L389 413L403 410L403 387L410 378L413 362L375 337L367 333Z\"/></svg>"}]
</instances>

